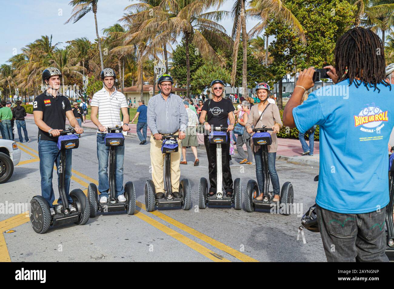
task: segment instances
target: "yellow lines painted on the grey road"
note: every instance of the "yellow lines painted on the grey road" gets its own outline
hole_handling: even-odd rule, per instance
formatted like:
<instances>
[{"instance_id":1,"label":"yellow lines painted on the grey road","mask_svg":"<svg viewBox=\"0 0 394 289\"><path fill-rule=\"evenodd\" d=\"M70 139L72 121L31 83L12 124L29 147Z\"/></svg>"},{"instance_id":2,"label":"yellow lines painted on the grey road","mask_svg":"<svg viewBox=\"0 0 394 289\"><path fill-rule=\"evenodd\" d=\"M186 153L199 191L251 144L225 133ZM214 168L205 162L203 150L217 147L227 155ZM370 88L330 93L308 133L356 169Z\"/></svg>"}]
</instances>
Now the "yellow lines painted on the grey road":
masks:
<instances>
[{"instance_id":1,"label":"yellow lines painted on the grey road","mask_svg":"<svg viewBox=\"0 0 394 289\"><path fill-rule=\"evenodd\" d=\"M29 149L30 151L33 151L35 153L38 154L37 151L35 151L34 149L27 147L25 145L19 144L20 146ZM23 149L23 151L26 151ZM32 156L35 156L31 153L29 153ZM83 173L80 173L79 171L76 171L74 169L72 169L72 174L73 175L78 175L79 177L87 180L88 182L92 182L96 185L98 185L97 180L94 180L86 175L84 175ZM78 182L79 184L81 184L82 186L86 187L89 185L87 182L84 182L81 179L78 179L74 176L71 177L72 180ZM87 193L87 190L84 190L84 193ZM137 206L143 210L145 210L145 205L142 204L141 202L137 202ZM244 261L244 262L257 262L257 260L243 254L242 252L235 250L219 241L217 241L216 239L213 239L209 236L206 236L205 234L187 226L184 225L183 223L178 222L177 220L162 214L161 212L158 211L154 211L154 212L150 212L150 214L153 214L154 216L162 219L163 221L177 227L178 229L194 236L197 237L198 239L200 239L201 241L204 241L206 243L208 243L209 245L215 247L216 249L219 249L223 252L226 252L227 254L230 254L231 256L237 258L240 261ZM155 228L159 229L160 231L164 232L165 234L177 239L178 241L180 241L181 243L187 245L188 247L190 247L191 249L195 250L196 252L199 252L200 254L202 254L203 256L206 256L208 259L212 260L212 261L216 261L216 262L229 262L230 260L227 260L226 258L224 258L223 256L217 254L216 252L204 247L203 245L193 241L192 239L184 236L183 234L180 234L179 232L165 226L164 224L156 221L155 219L152 219L151 217L149 217L146 214L141 213L140 211L136 211L136 213L134 214L136 215L136 217L138 217L139 219L149 223L150 225L154 226ZM12 219L12 220L11 220ZM4 232L6 230L9 230L11 228L14 228L15 226L19 226L22 225L26 222L29 221L29 218L26 217L26 214L20 214L14 217L11 217L5 221L0 222L0 232ZM4 245L3 245L4 244ZM5 247L5 249L4 249ZM5 254L6 253L6 254ZM3 257L4 256L4 257ZM8 259L8 260L7 260ZM10 261L9 255L8 255L8 250L5 244L5 240L4 240L4 236L3 234L1 234L0 236L0 261Z\"/></svg>"}]
</instances>

